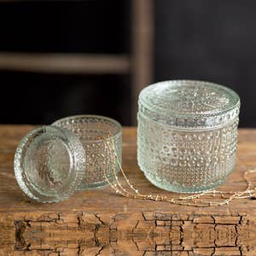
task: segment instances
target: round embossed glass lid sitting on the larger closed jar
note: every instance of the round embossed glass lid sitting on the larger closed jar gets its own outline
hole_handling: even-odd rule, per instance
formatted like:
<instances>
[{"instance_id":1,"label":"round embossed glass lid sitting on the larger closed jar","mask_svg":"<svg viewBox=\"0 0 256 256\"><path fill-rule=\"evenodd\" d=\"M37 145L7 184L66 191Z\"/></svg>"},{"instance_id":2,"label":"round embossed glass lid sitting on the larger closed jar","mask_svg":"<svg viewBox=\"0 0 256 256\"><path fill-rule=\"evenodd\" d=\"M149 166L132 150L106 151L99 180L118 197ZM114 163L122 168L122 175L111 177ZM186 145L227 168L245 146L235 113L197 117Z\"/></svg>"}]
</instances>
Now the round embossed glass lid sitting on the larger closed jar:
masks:
<instances>
[{"instance_id":1,"label":"round embossed glass lid sitting on the larger closed jar","mask_svg":"<svg viewBox=\"0 0 256 256\"><path fill-rule=\"evenodd\" d=\"M171 80L149 85L139 96L139 112L164 125L207 128L224 125L239 114L234 90L204 81Z\"/></svg>"}]
</instances>

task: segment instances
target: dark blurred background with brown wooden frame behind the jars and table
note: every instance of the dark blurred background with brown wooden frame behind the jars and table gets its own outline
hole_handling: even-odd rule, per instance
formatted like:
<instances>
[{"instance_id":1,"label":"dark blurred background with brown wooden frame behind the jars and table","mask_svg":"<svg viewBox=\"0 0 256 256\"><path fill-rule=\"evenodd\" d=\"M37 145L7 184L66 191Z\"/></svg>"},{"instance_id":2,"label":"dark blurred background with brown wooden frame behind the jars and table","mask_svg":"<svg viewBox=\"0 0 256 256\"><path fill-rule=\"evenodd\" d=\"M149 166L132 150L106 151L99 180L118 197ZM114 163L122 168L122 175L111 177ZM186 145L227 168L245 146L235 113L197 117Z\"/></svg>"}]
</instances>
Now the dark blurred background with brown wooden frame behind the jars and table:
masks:
<instances>
[{"instance_id":1,"label":"dark blurred background with brown wooden frame behind the jars and table","mask_svg":"<svg viewBox=\"0 0 256 256\"><path fill-rule=\"evenodd\" d=\"M96 113L136 125L137 94L166 79L224 84L256 126L253 0L0 1L0 123Z\"/></svg>"}]
</instances>

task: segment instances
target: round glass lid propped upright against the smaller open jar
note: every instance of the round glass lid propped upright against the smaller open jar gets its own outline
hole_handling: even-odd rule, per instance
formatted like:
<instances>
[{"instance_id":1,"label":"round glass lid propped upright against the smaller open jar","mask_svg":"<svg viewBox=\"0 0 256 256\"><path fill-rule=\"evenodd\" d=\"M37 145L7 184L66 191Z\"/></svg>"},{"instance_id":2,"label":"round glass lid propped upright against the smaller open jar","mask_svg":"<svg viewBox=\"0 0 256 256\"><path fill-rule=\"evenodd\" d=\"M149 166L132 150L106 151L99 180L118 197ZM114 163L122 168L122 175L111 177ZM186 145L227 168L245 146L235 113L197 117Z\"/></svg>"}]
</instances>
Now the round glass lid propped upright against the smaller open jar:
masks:
<instances>
[{"instance_id":1,"label":"round glass lid propped upright against the smaller open jar","mask_svg":"<svg viewBox=\"0 0 256 256\"><path fill-rule=\"evenodd\" d=\"M79 138L55 126L30 131L15 153L16 180L35 201L67 199L79 187L85 168L85 152Z\"/></svg>"}]
</instances>

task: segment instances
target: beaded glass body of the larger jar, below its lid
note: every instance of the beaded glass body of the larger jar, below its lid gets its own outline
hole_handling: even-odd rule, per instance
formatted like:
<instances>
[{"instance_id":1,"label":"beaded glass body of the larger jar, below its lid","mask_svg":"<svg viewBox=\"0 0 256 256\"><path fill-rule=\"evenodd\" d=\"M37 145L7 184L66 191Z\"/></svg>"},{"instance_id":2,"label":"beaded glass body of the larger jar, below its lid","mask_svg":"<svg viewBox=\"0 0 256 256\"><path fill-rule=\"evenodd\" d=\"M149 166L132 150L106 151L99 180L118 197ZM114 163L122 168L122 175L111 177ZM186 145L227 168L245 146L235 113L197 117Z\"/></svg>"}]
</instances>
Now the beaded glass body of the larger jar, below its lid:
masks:
<instances>
[{"instance_id":1,"label":"beaded glass body of the larger jar, below its lid","mask_svg":"<svg viewBox=\"0 0 256 256\"><path fill-rule=\"evenodd\" d=\"M238 119L211 129L163 125L138 113L137 160L161 189L194 193L217 187L236 165Z\"/></svg>"}]
</instances>

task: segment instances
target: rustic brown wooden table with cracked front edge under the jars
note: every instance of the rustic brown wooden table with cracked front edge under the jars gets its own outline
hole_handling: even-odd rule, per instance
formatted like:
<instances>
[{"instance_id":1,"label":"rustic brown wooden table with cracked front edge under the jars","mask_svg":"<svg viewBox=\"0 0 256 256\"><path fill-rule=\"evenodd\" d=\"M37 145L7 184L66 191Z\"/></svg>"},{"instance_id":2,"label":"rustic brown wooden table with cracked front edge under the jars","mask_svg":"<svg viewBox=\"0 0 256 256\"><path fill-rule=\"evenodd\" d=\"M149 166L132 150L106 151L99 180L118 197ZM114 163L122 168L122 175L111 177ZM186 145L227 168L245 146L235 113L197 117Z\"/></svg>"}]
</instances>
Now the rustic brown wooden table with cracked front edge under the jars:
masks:
<instances>
[{"instance_id":1,"label":"rustic brown wooden table with cracked front edge under the jars","mask_svg":"<svg viewBox=\"0 0 256 256\"><path fill-rule=\"evenodd\" d=\"M181 207L121 197L109 187L67 201L29 201L15 182L15 148L30 125L0 125L0 255L256 255L256 200ZM136 128L125 128L123 166L145 193L155 188L137 166ZM245 189L256 167L256 130L240 130L236 170L221 187Z\"/></svg>"}]
</instances>

